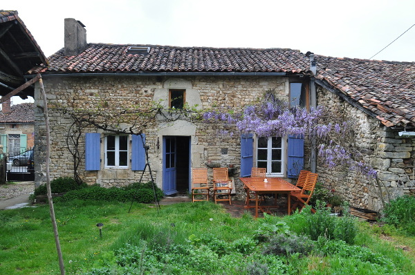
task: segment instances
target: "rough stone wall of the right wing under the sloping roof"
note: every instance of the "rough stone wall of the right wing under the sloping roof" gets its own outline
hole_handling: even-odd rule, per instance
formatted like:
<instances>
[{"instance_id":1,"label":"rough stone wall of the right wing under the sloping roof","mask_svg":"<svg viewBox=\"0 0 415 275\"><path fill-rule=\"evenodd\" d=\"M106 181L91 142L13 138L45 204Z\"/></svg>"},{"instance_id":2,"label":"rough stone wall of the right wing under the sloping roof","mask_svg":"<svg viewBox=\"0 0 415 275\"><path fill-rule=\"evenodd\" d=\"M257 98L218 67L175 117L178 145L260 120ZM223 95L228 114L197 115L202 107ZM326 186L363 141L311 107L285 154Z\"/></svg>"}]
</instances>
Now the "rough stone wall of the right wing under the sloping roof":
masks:
<instances>
[{"instance_id":1,"label":"rough stone wall of the right wing under the sloping roof","mask_svg":"<svg viewBox=\"0 0 415 275\"><path fill-rule=\"evenodd\" d=\"M397 130L383 126L376 118L323 88L317 89L317 100L326 108L347 114L354 123L356 144L365 154L365 162L378 171L379 180L369 180L347 167L328 169L319 163L320 182L329 189L335 189L351 206L375 211L382 208L381 196L387 201L405 193L415 193L415 139L401 138Z\"/></svg>"}]
</instances>

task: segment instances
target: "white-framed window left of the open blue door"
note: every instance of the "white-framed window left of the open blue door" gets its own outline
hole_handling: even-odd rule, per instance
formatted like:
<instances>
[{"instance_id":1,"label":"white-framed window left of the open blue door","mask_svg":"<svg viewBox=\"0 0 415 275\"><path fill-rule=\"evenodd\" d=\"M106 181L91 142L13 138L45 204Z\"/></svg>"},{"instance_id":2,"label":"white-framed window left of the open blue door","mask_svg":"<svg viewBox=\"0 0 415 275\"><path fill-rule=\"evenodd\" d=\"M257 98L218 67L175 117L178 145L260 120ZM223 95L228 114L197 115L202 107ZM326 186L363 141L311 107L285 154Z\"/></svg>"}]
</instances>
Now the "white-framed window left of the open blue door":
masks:
<instances>
[{"instance_id":1,"label":"white-framed window left of the open blue door","mask_svg":"<svg viewBox=\"0 0 415 275\"><path fill-rule=\"evenodd\" d=\"M105 137L105 167L128 168L128 135Z\"/></svg>"}]
</instances>

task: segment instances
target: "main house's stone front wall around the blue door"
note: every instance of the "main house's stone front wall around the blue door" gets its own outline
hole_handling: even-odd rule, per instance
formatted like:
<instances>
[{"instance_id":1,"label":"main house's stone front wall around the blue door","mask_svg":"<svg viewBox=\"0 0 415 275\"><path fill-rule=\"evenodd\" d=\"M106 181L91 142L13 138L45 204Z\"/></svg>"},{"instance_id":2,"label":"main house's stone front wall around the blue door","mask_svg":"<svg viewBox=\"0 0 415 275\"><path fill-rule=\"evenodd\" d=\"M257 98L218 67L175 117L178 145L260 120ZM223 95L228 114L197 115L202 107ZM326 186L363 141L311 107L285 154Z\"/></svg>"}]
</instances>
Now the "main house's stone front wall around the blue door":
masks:
<instances>
[{"instance_id":1,"label":"main house's stone front wall around the blue door","mask_svg":"<svg viewBox=\"0 0 415 275\"><path fill-rule=\"evenodd\" d=\"M280 99L288 99L288 78L286 77L48 77L44 76L44 87L48 105L63 104L69 108L94 108L98 104L104 108L146 106L152 100L158 102L168 96L168 90L185 89L186 101L190 105L207 110L212 107L241 109L262 97L264 92L275 89ZM35 102L42 105L39 87L35 89ZM163 103L164 102L164 103ZM66 136L72 124L67 115L49 107L51 130L50 173L51 180L60 176L73 176L73 158L66 148ZM40 108L35 108L35 183L42 184L45 160L45 126ZM151 170L158 187L162 187L163 136L185 135L191 137L191 167L206 167L208 162L218 163L221 167L234 164L240 167L239 137L221 136L217 127L201 122L179 120L172 123L158 122L149 124L145 130L149 144ZM85 131L95 132L94 129ZM102 132L102 131L100 131ZM80 151L84 152L84 136L80 139ZM103 146L103 145L102 145ZM101 150L103 152L103 150ZM104 159L102 155L102 159ZM122 186L136 182L141 171L131 169L104 169L84 171L84 162L80 165L80 175L89 184L101 184L104 187ZM210 169L210 176L212 170ZM239 176L239 173L238 175ZM237 179L235 176L235 179ZM145 173L145 180L149 179ZM243 193L237 180L237 193Z\"/></svg>"}]
</instances>

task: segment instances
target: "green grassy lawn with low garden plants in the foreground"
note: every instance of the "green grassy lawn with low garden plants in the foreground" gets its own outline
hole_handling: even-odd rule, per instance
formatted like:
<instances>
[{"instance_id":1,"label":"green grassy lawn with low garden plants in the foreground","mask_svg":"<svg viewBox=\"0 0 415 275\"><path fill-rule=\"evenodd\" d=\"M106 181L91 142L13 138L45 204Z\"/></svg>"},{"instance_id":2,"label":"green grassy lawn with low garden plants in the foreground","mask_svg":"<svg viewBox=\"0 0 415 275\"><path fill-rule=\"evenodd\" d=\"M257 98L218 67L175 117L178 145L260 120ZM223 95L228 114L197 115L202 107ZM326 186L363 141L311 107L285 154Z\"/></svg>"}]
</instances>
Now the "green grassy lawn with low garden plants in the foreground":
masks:
<instances>
[{"instance_id":1,"label":"green grassy lawn with low garden plants in the foreground","mask_svg":"<svg viewBox=\"0 0 415 275\"><path fill-rule=\"evenodd\" d=\"M354 218L320 208L259 219L232 218L212 202L128 210L121 202L55 204L66 274L412 274L415 267ZM353 245L324 234L313 240L304 227L317 215L315 227L356 230ZM0 274L58 273L47 207L5 210L0 221Z\"/></svg>"}]
</instances>

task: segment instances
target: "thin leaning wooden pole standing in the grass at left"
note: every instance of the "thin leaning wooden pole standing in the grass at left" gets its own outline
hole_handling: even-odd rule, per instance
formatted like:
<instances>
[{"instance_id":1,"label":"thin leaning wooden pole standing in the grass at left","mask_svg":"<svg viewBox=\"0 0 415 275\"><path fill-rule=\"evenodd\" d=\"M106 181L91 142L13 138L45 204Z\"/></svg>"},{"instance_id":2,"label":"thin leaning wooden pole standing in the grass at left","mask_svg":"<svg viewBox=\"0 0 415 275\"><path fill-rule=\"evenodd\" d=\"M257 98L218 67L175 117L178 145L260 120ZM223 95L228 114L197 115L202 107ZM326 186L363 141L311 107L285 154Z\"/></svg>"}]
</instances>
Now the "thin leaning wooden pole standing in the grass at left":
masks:
<instances>
[{"instance_id":1,"label":"thin leaning wooden pole standing in the grass at left","mask_svg":"<svg viewBox=\"0 0 415 275\"><path fill-rule=\"evenodd\" d=\"M43 102L44 102L44 118L45 118L45 125L46 125L46 160L45 160L46 189L48 190L50 219L52 220L53 233L55 234L55 244L56 244L57 256L59 258L59 268L60 268L61 275L64 275L65 274L64 258L62 257L62 250L61 250L60 243L59 243L59 234L57 232L55 209L53 209L52 191L50 190L50 173L49 173L50 128L49 128L49 117L48 117L48 102L46 100L46 93L45 93L42 76L38 74L37 77L39 77L40 91L41 91Z\"/></svg>"}]
</instances>

